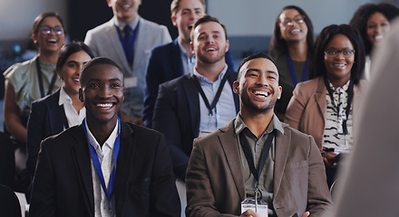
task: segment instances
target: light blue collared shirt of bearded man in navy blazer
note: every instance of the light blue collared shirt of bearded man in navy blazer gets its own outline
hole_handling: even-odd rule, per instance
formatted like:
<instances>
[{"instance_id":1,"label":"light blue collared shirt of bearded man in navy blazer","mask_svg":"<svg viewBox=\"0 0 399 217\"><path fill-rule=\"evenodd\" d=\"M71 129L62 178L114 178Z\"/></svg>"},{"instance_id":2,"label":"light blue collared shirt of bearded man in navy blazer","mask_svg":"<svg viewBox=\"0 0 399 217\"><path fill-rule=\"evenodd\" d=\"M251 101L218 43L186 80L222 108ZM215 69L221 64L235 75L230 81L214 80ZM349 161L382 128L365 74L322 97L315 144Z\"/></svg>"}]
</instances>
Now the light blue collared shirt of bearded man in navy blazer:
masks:
<instances>
[{"instance_id":1,"label":"light blue collared shirt of bearded man in navy blazer","mask_svg":"<svg viewBox=\"0 0 399 217\"><path fill-rule=\"evenodd\" d=\"M228 65L226 64L223 71L220 72L218 80L212 82L200 75L197 70L194 68L194 75L197 76L199 80L199 84L202 90L207 96L209 104L212 103L216 92L219 89L219 85L223 76L226 74L228 70ZM200 123L199 123L199 137L205 136L219 127L223 127L229 123L232 119L236 118L237 111L234 103L234 95L233 89L229 84L229 80L226 80L226 83L221 91L220 98L216 107L212 110L213 115L209 115L209 109L205 106L204 99L199 94L199 110L200 110Z\"/></svg>"}]
</instances>

